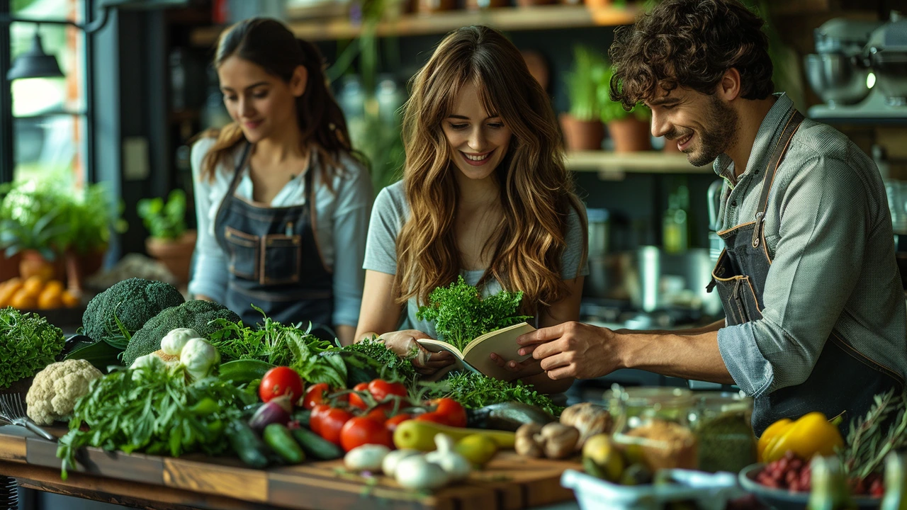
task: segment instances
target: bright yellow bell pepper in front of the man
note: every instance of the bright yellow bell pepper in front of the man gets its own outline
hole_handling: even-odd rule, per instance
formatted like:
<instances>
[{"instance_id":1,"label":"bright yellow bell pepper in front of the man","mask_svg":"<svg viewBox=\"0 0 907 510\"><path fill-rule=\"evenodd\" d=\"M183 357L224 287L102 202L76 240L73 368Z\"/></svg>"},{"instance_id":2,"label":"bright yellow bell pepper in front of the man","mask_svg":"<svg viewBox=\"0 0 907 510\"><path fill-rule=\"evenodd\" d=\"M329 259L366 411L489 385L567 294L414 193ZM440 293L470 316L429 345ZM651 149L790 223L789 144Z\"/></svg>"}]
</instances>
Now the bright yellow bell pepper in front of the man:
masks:
<instances>
[{"instance_id":1,"label":"bright yellow bell pepper in front of the man","mask_svg":"<svg viewBox=\"0 0 907 510\"><path fill-rule=\"evenodd\" d=\"M761 462L774 462L792 450L805 460L814 455L830 456L834 448L844 446L844 438L824 414L815 412L796 421L781 419L766 428L759 438L756 453Z\"/></svg>"}]
</instances>

